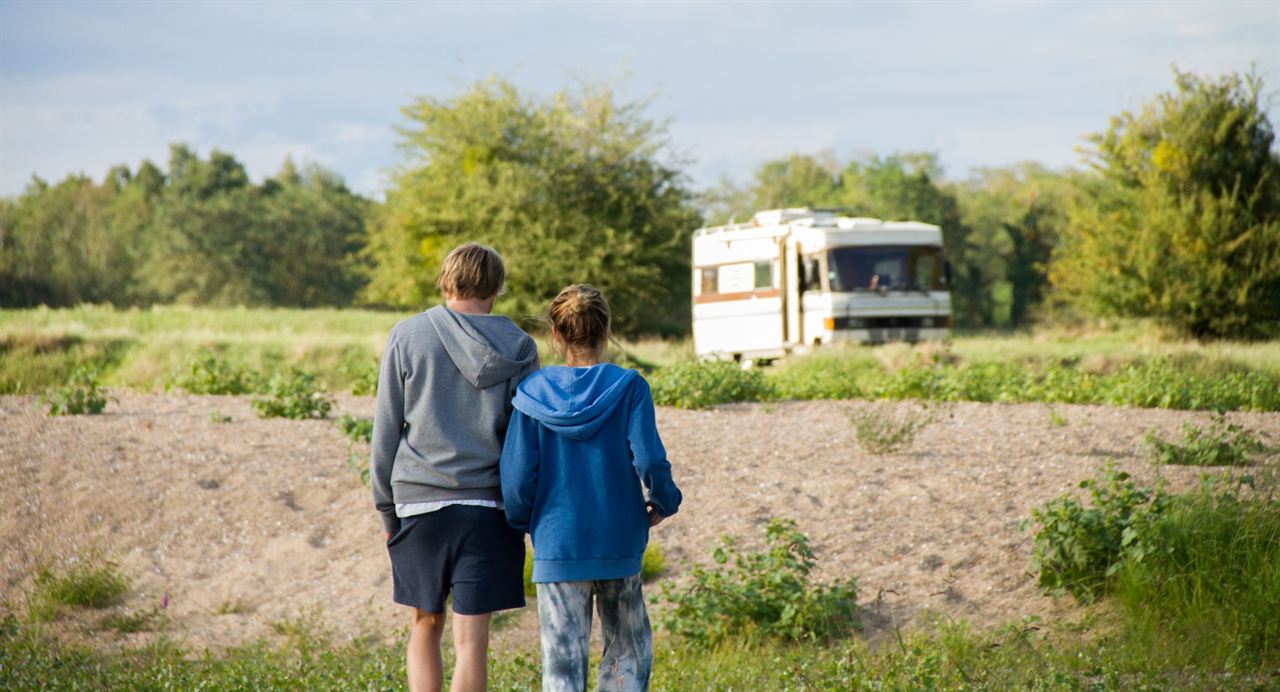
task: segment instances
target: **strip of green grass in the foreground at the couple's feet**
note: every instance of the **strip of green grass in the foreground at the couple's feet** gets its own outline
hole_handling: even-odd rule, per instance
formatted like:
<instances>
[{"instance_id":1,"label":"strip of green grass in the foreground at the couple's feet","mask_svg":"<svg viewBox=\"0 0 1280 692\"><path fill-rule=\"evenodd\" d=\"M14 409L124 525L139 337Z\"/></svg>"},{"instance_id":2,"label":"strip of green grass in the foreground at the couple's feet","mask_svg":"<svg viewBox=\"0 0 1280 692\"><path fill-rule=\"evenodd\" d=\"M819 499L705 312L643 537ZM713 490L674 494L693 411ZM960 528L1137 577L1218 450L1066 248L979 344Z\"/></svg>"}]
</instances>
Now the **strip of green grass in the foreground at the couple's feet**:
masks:
<instances>
[{"instance_id":1,"label":"strip of green grass in the foreground at the couple's feet","mask_svg":"<svg viewBox=\"0 0 1280 692\"><path fill-rule=\"evenodd\" d=\"M1164 651L1148 642L1036 620L989 632L964 622L938 622L890 632L877 642L785 645L733 638L710 650L659 633L652 688L1263 689L1280 684L1274 669L1162 668L1164 661ZM10 689L404 689L406 682L403 645L374 637L333 643L305 627L221 652L188 651L163 637L147 646L102 651L60 642L6 617L0 619L0 665ZM445 669L451 668L445 645ZM540 675L536 649L490 657L490 689L536 689Z\"/></svg>"}]
</instances>

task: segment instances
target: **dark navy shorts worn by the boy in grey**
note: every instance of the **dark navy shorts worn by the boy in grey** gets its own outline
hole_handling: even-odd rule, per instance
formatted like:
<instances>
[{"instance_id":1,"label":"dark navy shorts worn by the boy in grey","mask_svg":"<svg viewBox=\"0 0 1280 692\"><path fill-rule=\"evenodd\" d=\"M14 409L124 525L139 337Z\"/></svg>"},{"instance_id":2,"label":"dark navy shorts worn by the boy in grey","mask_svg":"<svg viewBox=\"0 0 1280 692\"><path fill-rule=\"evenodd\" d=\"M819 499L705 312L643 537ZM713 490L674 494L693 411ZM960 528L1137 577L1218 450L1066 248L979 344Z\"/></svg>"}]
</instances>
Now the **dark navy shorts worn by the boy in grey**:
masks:
<instances>
[{"instance_id":1,"label":"dark navy shorts worn by the boy in grey","mask_svg":"<svg viewBox=\"0 0 1280 692\"><path fill-rule=\"evenodd\" d=\"M449 505L401 519L389 541L393 599L426 613L481 615L525 606L525 536L500 509Z\"/></svg>"}]
</instances>

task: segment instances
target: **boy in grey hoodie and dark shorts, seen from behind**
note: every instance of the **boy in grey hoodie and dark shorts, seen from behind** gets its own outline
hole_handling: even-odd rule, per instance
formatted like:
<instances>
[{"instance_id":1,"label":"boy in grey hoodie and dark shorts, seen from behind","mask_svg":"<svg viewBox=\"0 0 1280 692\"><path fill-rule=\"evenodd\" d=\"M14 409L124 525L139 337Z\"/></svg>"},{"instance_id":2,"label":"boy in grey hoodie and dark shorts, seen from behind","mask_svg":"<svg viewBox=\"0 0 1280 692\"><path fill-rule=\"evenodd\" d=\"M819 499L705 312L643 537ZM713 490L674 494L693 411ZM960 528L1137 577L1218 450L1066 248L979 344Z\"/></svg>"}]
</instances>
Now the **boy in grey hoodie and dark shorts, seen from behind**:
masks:
<instances>
[{"instance_id":1,"label":"boy in grey hoodie and dark shorts, seen from behind","mask_svg":"<svg viewBox=\"0 0 1280 692\"><path fill-rule=\"evenodd\" d=\"M516 385L539 363L527 334L489 315L504 279L493 248L454 248L440 269L445 304L392 327L383 353L370 485L393 597L413 608L411 689L442 686L449 595L454 691L485 688L490 614L525 605L524 535L502 510L498 459Z\"/></svg>"}]
</instances>

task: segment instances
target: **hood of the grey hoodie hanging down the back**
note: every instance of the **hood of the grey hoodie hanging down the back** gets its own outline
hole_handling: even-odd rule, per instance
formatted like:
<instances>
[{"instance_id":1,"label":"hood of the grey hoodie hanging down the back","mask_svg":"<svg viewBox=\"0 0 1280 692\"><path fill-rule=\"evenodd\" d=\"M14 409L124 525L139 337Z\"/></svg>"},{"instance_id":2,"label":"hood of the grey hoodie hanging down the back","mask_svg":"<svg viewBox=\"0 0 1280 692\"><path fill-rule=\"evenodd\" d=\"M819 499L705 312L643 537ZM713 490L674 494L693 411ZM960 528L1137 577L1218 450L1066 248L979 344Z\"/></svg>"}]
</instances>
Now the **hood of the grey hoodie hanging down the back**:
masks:
<instances>
[{"instance_id":1,"label":"hood of the grey hoodie hanging down the back","mask_svg":"<svg viewBox=\"0 0 1280 692\"><path fill-rule=\"evenodd\" d=\"M502 315L466 315L435 306L426 317L458 372L477 389L511 379L538 357L538 349L529 345L532 342Z\"/></svg>"}]
</instances>

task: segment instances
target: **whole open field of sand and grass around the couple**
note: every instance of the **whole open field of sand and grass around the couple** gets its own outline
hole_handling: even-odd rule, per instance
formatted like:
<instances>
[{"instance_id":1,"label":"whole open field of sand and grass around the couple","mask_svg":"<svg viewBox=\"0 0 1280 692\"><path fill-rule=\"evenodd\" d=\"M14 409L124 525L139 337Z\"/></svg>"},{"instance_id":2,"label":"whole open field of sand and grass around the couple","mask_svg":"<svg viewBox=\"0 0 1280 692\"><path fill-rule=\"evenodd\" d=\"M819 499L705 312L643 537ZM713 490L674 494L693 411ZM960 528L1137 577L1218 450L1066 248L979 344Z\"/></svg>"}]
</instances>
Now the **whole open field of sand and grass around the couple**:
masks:
<instances>
[{"instance_id":1,"label":"whole open field of sand and grass around the couple","mask_svg":"<svg viewBox=\"0 0 1280 692\"><path fill-rule=\"evenodd\" d=\"M9 393L0 397L0 670L55 687L77 675L95 687L210 679L229 688L401 686L397 642L407 618L389 601L389 565L360 481L367 448L337 425L344 414L371 414L372 398L351 390L364 386L385 329L399 317L92 307L0 313L0 382ZM681 374L687 343L625 349L650 370L655 390L663 381L721 377ZM210 354L250 372L310 370L337 390L334 408L325 418L260 418L253 393L166 390L192 356ZM73 362L95 363L110 385L101 414L46 414L36 393L56 388ZM1190 394L1097 405L947 384L966 367L1000 366L1032 374L1046 397L1059 391L1044 384L1065 377L1057 372L1089 374L1091 393L1119 391L1111 377L1149 363L1162 363L1157 374L1167 380L1140 382L1175 382ZM888 395L886 388L913 372L937 377L920 390L927 397ZM833 398L840 388L814 389L841 374L860 391L888 394ZM1263 388L1187 385L1236 376ZM803 646L746 631L710 649L659 628L655 687L1280 683L1280 643L1266 623L1247 638L1249 622L1197 620L1202 638L1187 637L1181 620L1133 615L1124 574L1114 595L1092 602L1043 595L1032 565L1036 524L1020 527L1056 498L1085 498L1080 481L1108 463L1176 496L1194 494L1206 475L1234 471L1249 484L1231 507L1274 518L1280 414L1267 405L1275 393L1266 386L1280 377L1280 345L1197 344L1124 325L849 349L759 377L767 390L737 397L754 400L659 407L686 505L654 532L666 556L649 586L655 620L671 622L664 618L698 568L717 568L721 535L754 550L763 527L785 518L814 550L814 579L856 578L861 628ZM801 386L824 395L788 400ZM1230 409L1222 416L1151 404L1194 397L1244 404L1201 407ZM902 432L902 422L915 427ZM1156 466L1151 437L1183 440L1184 426L1230 426L1257 446L1243 467ZM116 596L102 608L50 605L49 585L69 583L88 567L101 568L100 581L123 579ZM1262 592L1258 602L1280 606L1277 592ZM495 686L529 687L536 613L499 617L495 628Z\"/></svg>"}]
</instances>

